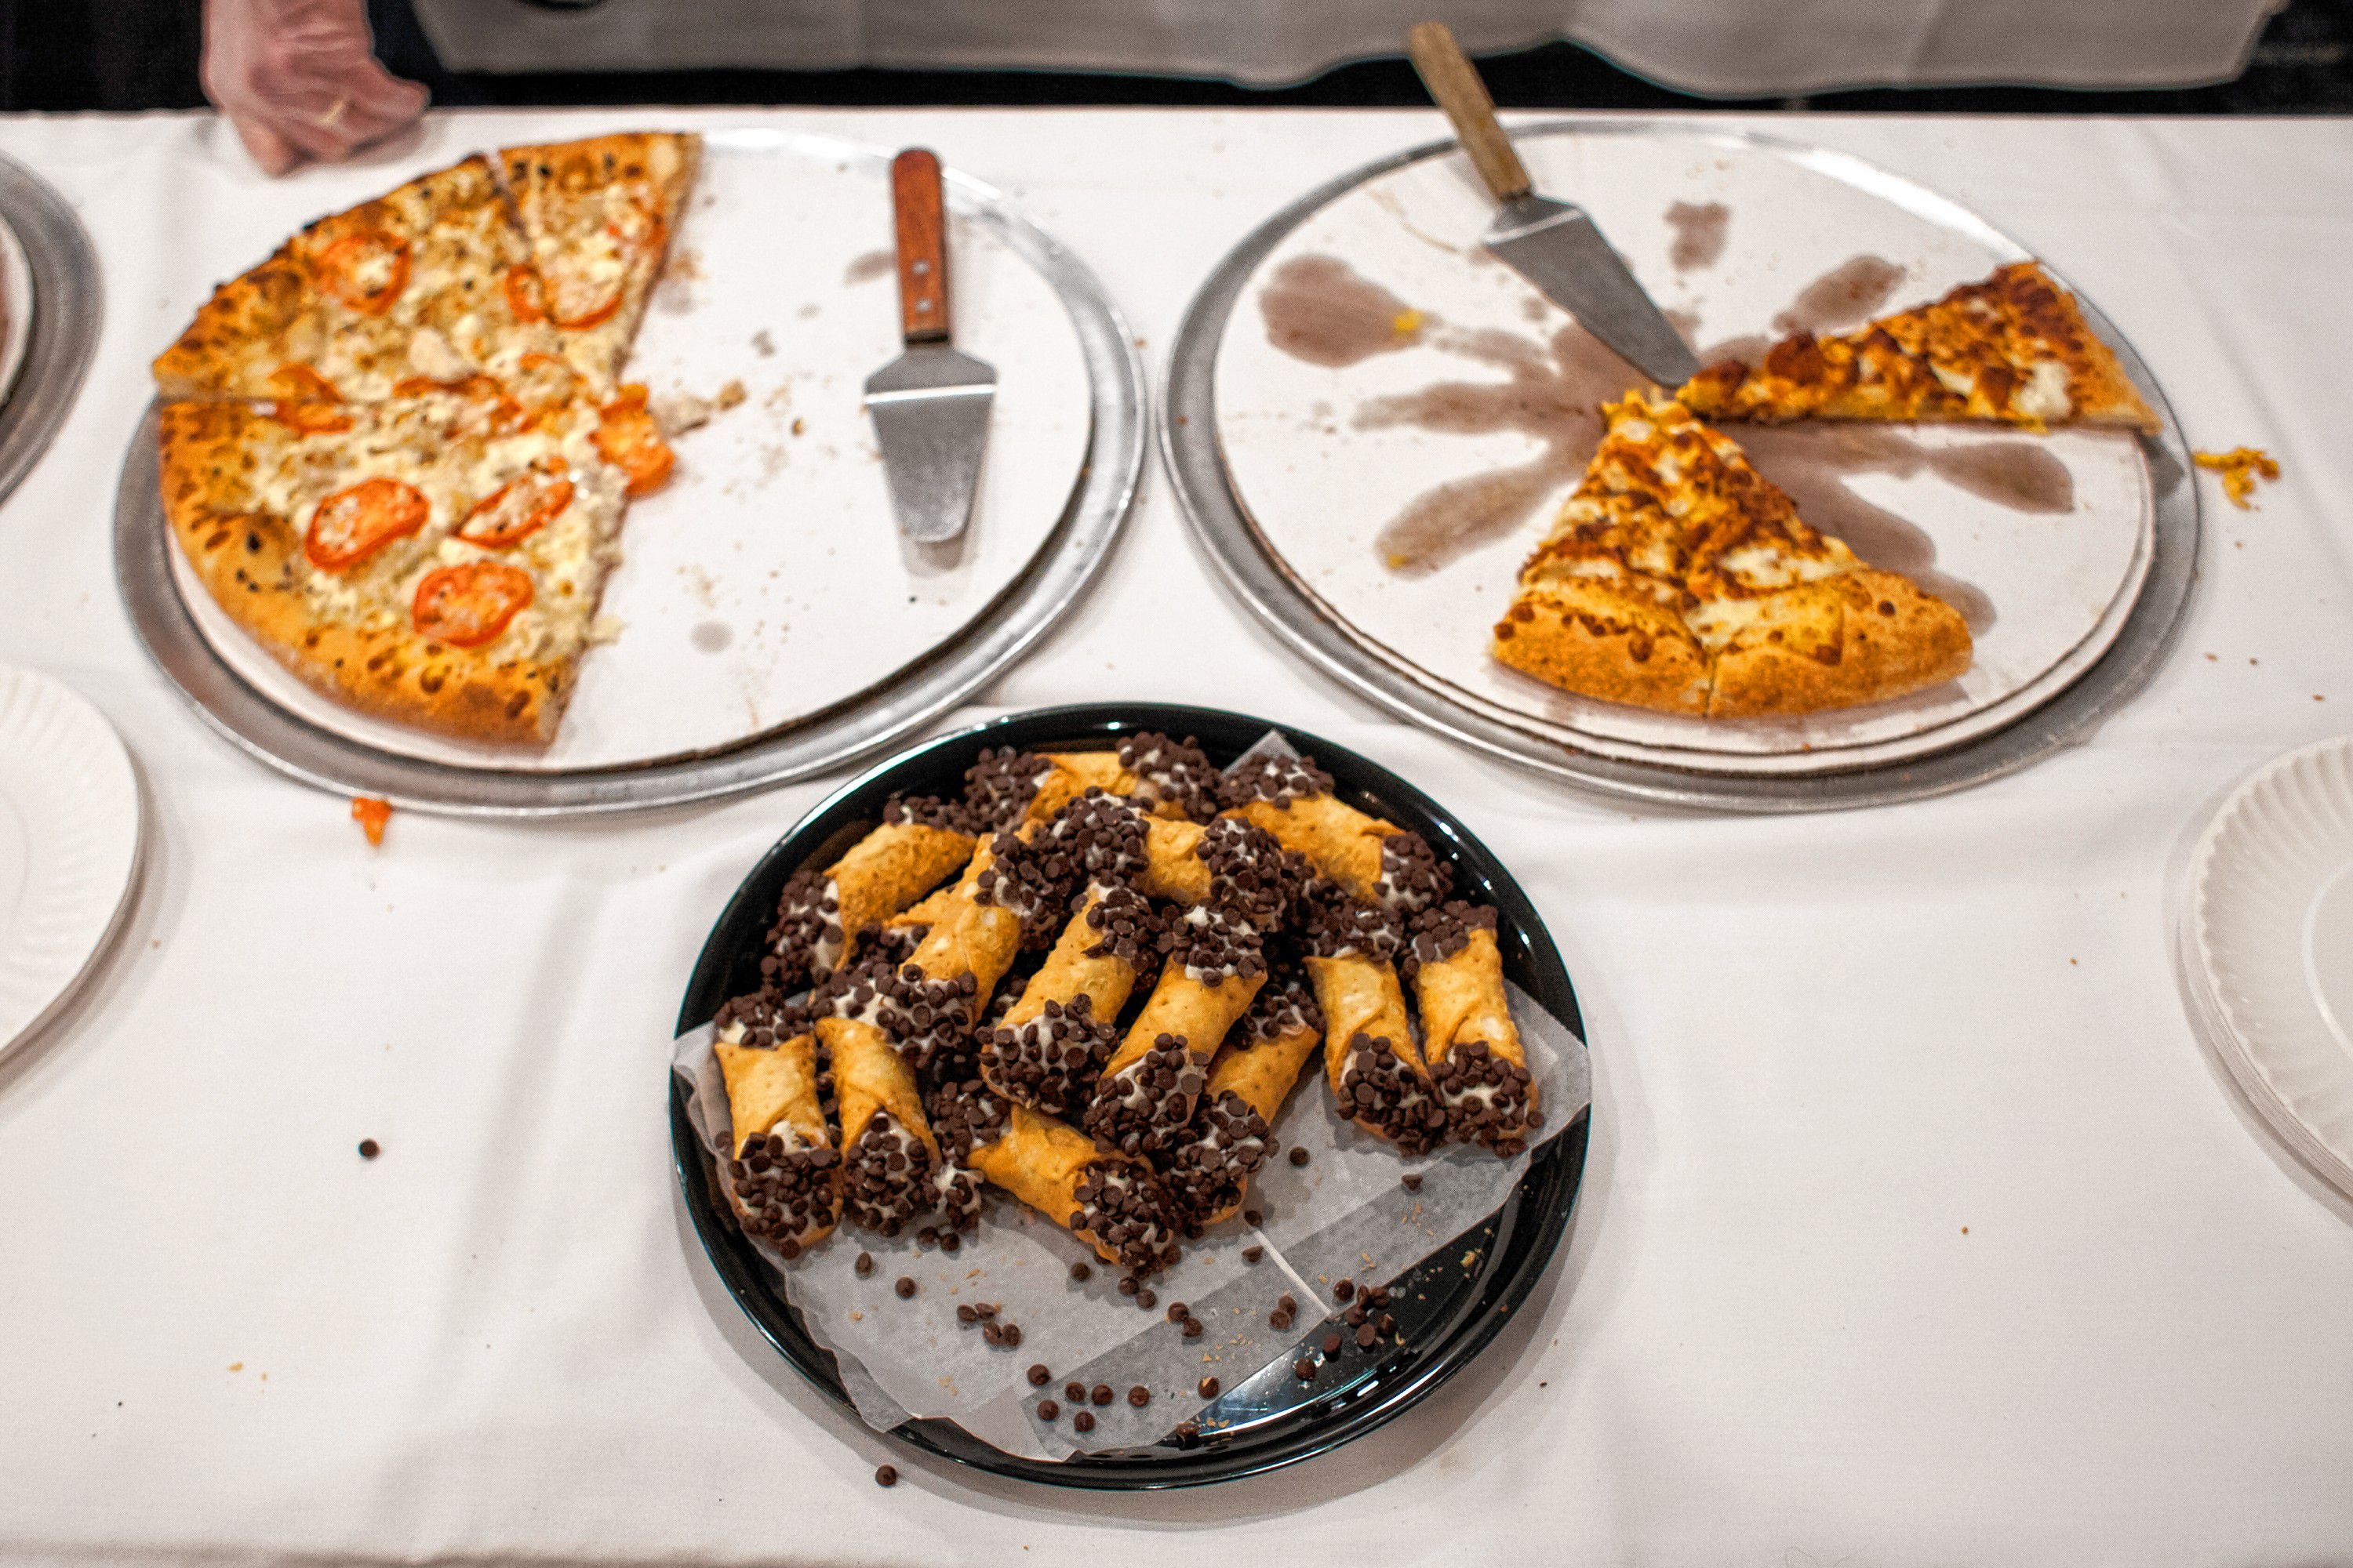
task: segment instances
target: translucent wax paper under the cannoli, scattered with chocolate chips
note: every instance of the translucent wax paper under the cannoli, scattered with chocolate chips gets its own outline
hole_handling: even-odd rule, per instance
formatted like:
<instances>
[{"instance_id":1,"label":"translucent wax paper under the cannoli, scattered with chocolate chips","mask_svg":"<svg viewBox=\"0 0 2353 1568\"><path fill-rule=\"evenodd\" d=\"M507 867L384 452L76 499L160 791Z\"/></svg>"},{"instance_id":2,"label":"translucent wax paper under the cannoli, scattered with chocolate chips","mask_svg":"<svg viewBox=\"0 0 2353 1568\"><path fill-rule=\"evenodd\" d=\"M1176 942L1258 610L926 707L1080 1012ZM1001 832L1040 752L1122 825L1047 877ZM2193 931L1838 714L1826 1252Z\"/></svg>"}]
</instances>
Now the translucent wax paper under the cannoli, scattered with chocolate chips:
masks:
<instances>
[{"instance_id":1,"label":"translucent wax paper under the cannoli, scattered with chocolate chips","mask_svg":"<svg viewBox=\"0 0 2353 1568\"><path fill-rule=\"evenodd\" d=\"M1544 1140L1558 1138L1591 1103L1586 1046L1518 987L1511 1013L1537 1079ZM727 1091L708 1025L678 1037L671 1070L687 1086L687 1117L718 1159L725 1187ZM896 1239L845 1227L793 1262L755 1248L784 1279L809 1335L833 1352L866 1425L887 1432L911 1415L946 1418L1033 1460L1061 1460L1080 1446L1092 1453L1151 1446L1200 1418L1209 1403L1202 1378L1228 1392L1275 1361L1308 1354L1322 1363L1329 1331L1322 1319L1341 1309L1337 1281L1386 1284L1431 1258L1494 1215L1532 1157L1497 1159L1457 1145L1402 1159L1395 1145L1339 1119L1320 1051L1275 1119L1275 1138L1282 1152L1249 1185L1247 1213L1259 1222L1238 1218L1188 1244L1174 1267L1146 1281L1153 1307L1120 1295L1120 1269L1089 1246L995 1190L979 1229L960 1237L955 1253L920 1246L920 1227ZM1294 1166L1292 1150L1306 1150L1308 1161ZM1405 1187L1409 1173L1424 1178L1419 1192ZM1261 1248L1259 1262L1242 1258L1252 1246ZM854 1269L859 1253L873 1255L871 1274ZM1089 1279L1071 1276L1078 1262ZM899 1300L899 1279L915 1281L913 1298ZM1268 1326L1282 1295L1299 1305L1292 1331ZM1019 1347L991 1347L976 1324L955 1319L958 1305L979 1302L998 1307L998 1324L1021 1328ZM1167 1319L1174 1302L1200 1319L1200 1338L1186 1340ZM1362 1352L1351 1340L1318 1378L1339 1382L1391 1349L1388 1338ZM1028 1382L1031 1366L1049 1368L1045 1387ZM1096 1427L1085 1439L1071 1429L1071 1408L1056 1422L1035 1415L1042 1396L1068 1406L1068 1380L1118 1392L1113 1403L1089 1406ZM1132 1406L1132 1387L1148 1389L1151 1403Z\"/></svg>"}]
</instances>

